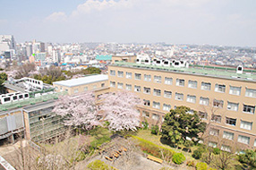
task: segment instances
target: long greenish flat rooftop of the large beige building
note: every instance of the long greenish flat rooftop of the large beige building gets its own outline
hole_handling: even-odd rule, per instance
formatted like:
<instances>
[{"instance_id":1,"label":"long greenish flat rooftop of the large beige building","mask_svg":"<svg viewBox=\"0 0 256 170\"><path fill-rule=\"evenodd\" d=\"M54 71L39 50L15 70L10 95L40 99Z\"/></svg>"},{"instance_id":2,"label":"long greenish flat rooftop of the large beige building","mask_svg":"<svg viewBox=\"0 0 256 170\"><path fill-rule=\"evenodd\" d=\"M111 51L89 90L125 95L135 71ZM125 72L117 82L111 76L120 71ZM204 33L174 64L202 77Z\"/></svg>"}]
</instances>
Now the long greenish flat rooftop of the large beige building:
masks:
<instances>
[{"instance_id":1,"label":"long greenish flat rooftop of the large beige building","mask_svg":"<svg viewBox=\"0 0 256 170\"><path fill-rule=\"evenodd\" d=\"M156 66L149 64L135 64L126 62L115 62L113 66L122 66L128 68L137 68L145 70L154 71L164 71L164 72L179 72L193 75L201 75L207 77L216 77L222 79L231 79L236 81L256 81L256 70L246 70L243 69L243 73L236 73L235 68L230 67L215 67L209 65L190 65L189 68L182 67L176 68L173 66Z\"/></svg>"}]
</instances>

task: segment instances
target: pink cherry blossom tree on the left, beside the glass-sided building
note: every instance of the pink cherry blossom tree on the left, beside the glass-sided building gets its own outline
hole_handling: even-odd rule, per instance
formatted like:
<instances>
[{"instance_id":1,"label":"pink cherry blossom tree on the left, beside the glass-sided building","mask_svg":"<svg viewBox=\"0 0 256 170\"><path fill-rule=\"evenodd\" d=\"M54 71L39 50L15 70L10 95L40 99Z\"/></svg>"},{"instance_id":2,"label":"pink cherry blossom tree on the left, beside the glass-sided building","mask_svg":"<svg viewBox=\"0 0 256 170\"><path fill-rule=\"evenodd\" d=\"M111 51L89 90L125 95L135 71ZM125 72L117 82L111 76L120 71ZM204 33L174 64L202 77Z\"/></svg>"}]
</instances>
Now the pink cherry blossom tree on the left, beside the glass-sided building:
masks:
<instances>
[{"instance_id":1,"label":"pink cherry blossom tree on the left, beside the glass-sided building","mask_svg":"<svg viewBox=\"0 0 256 170\"><path fill-rule=\"evenodd\" d=\"M55 102L53 110L56 115L64 117L64 124L81 127L84 130L100 125L101 116L91 91L76 95L63 96Z\"/></svg>"}]
</instances>

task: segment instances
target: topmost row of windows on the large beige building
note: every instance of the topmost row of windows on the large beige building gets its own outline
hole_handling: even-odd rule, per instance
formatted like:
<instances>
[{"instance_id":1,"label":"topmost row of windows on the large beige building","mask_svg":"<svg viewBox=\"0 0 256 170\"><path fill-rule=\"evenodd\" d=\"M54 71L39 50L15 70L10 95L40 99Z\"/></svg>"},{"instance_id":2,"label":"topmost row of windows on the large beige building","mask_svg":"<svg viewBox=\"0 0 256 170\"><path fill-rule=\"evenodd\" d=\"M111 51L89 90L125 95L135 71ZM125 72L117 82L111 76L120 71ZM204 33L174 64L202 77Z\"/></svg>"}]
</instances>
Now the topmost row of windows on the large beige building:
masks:
<instances>
[{"instance_id":1,"label":"topmost row of windows on the large beige building","mask_svg":"<svg viewBox=\"0 0 256 170\"><path fill-rule=\"evenodd\" d=\"M115 71L110 70L110 75L115 76ZM124 77L124 72L118 71L117 72L118 77ZM132 79L132 72L126 72L126 78L127 79ZM135 80L141 80L141 73L134 73L134 79ZM144 74L144 81L151 81L151 75L150 74ZM154 76L154 82L161 83L162 78L161 76ZM165 84L172 85L173 84L173 78L171 77L165 77ZM185 80L183 79L176 79L176 86L185 86ZM192 89L197 89L198 87L198 82L197 81L188 81L188 88ZM210 82L201 82L201 89L204 90L210 90L211 89L211 83ZM225 93L226 92L226 85L224 84L215 84L215 91ZM235 86L230 86L229 88L229 94L232 95L241 95L241 87L235 87ZM245 97L251 97L251 98L256 98L256 89L247 89L245 91Z\"/></svg>"}]
</instances>

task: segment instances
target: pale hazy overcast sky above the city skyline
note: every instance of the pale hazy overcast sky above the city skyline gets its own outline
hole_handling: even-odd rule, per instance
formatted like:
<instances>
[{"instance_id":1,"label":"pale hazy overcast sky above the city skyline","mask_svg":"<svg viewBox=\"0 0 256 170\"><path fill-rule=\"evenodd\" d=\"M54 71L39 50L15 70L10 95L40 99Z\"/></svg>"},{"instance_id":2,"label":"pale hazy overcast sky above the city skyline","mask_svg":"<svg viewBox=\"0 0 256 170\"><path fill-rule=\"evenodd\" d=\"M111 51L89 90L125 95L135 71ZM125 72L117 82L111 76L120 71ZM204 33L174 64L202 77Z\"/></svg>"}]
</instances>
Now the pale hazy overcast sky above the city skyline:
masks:
<instances>
[{"instance_id":1,"label":"pale hazy overcast sky above the city skyline","mask_svg":"<svg viewBox=\"0 0 256 170\"><path fill-rule=\"evenodd\" d=\"M256 0L0 0L16 41L256 47Z\"/></svg>"}]
</instances>

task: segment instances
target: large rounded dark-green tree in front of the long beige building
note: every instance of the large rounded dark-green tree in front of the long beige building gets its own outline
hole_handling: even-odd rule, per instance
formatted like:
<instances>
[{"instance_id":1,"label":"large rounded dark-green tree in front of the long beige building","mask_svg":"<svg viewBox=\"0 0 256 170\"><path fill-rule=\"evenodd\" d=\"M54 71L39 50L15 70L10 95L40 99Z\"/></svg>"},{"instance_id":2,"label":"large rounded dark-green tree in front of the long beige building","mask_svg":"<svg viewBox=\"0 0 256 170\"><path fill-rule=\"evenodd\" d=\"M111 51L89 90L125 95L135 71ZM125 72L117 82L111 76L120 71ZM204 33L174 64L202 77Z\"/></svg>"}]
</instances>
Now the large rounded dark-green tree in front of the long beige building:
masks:
<instances>
[{"instance_id":1,"label":"large rounded dark-green tree in front of the long beige building","mask_svg":"<svg viewBox=\"0 0 256 170\"><path fill-rule=\"evenodd\" d=\"M189 107L178 106L165 115L165 121L162 124L162 138L171 145L183 144L186 137L197 142L199 133L205 131L206 123L201 122L201 118L196 112L188 114L190 110Z\"/></svg>"}]
</instances>

